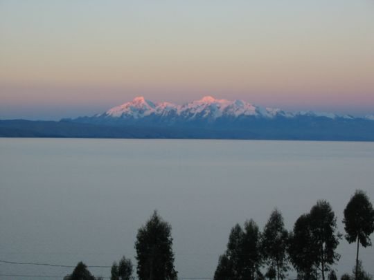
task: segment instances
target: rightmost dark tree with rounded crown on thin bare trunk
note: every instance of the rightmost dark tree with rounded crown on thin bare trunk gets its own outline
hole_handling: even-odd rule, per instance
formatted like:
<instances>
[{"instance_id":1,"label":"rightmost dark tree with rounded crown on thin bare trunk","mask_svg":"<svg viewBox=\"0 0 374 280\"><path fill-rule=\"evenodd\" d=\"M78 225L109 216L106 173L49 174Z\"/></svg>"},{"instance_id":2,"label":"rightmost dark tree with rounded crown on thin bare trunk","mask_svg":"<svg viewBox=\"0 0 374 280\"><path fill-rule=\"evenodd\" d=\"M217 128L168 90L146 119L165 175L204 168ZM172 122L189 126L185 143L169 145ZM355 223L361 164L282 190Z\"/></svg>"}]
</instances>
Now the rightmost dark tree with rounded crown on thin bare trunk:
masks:
<instances>
[{"instance_id":1,"label":"rightmost dark tree with rounded crown on thin bare trunk","mask_svg":"<svg viewBox=\"0 0 374 280\"><path fill-rule=\"evenodd\" d=\"M344 230L348 243L357 242L356 271L359 268L359 243L366 248L371 246L370 235L374 232L374 209L368 196L362 190L357 190L350 198L344 209Z\"/></svg>"}]
</instances>

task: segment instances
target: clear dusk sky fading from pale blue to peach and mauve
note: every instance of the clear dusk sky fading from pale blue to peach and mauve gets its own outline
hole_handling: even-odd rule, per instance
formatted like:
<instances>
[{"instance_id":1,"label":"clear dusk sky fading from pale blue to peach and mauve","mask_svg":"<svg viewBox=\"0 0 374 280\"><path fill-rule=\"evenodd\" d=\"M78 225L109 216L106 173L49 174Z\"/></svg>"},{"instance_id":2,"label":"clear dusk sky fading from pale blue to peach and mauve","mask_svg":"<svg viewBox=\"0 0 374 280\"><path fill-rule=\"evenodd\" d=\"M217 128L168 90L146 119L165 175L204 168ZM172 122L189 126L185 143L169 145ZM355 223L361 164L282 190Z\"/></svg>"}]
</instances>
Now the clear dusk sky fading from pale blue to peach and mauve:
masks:
<instances>
[{"instance_id":1,"label":"clear dusk sky fading from pale blue to peach and mauve","mask_svg":"<svg viewBox=\"0 0 374 280\"><path fill-rule=\"evenodd\" d=\"M0 119L139 95L374 113L374 1L0 0Z\"/></svg>"}]
</instances>

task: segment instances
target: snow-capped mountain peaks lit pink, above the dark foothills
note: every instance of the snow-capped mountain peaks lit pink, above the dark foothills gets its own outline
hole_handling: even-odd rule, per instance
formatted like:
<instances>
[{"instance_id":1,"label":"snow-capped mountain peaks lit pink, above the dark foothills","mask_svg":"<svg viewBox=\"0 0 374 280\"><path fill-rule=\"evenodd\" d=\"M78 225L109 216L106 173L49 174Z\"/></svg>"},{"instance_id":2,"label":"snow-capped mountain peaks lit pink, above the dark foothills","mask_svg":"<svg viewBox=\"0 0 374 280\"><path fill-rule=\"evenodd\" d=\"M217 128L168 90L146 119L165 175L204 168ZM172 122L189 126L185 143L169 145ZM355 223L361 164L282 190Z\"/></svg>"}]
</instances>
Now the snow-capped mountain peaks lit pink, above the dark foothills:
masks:
<instances>
[{"instance_id":1,"label":"snow-capped mountain peaks lit pink, above the dark foothills","mask_svg":"<svg viewBox=\"0 0 374 280\"><path fill-rule=\"evenodd\" d=\"M351 115L337 115L335 113L321 113L315 111L287 112L281 109L256 106L243 100L217 100L212 96L204 96L201 100L195 100L183 105L172 104L169 102L155 103L146 100L144 97L136 97L132 102L126 102L120 106L115 106L105 113L94 115L91 118L100 118L101 120L139 120L142 118L153 117L164 120L202 120L206 119L214 122L220 118L296 118L296 117L323 117L335 120L343 118L353 120ZM367 120L374 120L374 115L366 116Z\"/></svg>"}]
</instances>

